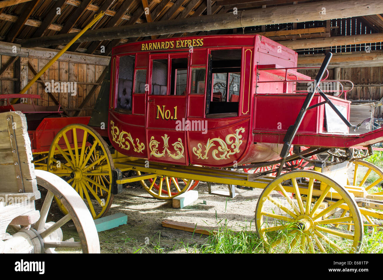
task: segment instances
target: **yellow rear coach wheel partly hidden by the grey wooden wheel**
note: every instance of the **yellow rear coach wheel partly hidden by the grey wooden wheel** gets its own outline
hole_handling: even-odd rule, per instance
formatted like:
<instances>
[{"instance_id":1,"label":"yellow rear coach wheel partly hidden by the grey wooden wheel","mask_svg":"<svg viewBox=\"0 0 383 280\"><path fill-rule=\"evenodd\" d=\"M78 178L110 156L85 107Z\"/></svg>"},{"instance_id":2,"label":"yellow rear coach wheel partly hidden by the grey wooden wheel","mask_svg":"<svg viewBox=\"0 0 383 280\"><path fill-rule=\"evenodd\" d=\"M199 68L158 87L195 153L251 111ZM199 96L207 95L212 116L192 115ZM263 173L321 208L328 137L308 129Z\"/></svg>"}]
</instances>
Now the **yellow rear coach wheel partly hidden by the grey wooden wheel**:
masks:
<instances>
[{"instance_id":1,"label":"yellow rear coach wheel partly hidden by the grey wooden wheel","mask_svg":"<svg viewBox=\"0 0 383 280\"><path fill-rule=\"evenodd\" d=\"M93 219L108 212L113 201L113 160L108 145L94 129L71 124L53 139L48 154L48 171L68 182L85 201ZM55 197L64 214L67 211Z\"/></svg>"}]
</instances>

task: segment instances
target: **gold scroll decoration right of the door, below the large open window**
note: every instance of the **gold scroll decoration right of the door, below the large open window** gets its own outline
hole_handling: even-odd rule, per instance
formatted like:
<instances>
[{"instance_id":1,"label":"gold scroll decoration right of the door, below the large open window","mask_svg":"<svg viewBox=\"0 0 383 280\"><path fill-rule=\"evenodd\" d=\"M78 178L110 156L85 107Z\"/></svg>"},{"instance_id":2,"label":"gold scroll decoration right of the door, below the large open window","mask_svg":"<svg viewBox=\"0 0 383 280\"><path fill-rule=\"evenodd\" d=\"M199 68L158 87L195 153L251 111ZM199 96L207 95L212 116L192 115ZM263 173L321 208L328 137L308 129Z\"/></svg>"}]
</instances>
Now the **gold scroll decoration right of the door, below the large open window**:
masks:
<instances>
[{"instance_id":1,"label":"gold scroll decoration right of the door, below the large open window","mask_svg":"<svg viewBox=\"0 0 383 280\"><path fill-rule=\"evenodd\" d=\"M218 146L216 149L214 149L211 152L211 155L215 160L226 160L230 158L231 155L234 155L235 153L239 153L241 150L239 150L239 147L242 144L242 135L240 132L244 133L245 129L243 127L240 127L239 129L236 129L236 133L228 134L225 137L225 140L221 138L212 138L208 139L208 142L205 146L205 152L202 151L202 144L198 143L197 147L193 147L193 153L201 160L207 160L208 159L208 152L211 148ZM217 145L216 145L217 143ZM229 146L229 147L228 147Z\"/></svg>"}]
</instances>

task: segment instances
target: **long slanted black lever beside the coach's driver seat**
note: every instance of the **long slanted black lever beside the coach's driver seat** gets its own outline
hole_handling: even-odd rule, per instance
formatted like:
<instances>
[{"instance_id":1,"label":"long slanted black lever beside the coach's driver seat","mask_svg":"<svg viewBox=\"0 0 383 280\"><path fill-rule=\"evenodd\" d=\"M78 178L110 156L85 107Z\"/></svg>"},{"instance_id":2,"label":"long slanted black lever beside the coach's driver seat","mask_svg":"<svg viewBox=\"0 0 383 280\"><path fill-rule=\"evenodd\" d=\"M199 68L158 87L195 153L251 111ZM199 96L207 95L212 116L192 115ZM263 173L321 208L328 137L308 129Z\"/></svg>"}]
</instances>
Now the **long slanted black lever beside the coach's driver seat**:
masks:
<instances>
[{"instance_id":1,"label":"long slanted black lever beside the coach's driver seat","mask_svg":"<svg viewBox=\"0 0 383 280\"><path fill-rule=\"evenodd\" d=\"M313 82L313 86L310 87L310 89L308 91L306 99L304 100L304 103L302 105L302 109L299 112L298 117L295 120L295 123L293 125L290 125L290 127L288 128L288 130L286 132L285 138L283 138L284 143L283 143L282 151L280 153L280 157L282 158L282 162L280 163L280 166L279 166L279 169L277 172L277 176L279 176L282 172L283 165L285 164L286 158L287 158L288 153L289 153L290 148L291 148L291 143L293 142L295 134L298 131L298 128L299 128L299 126L303 120L304 115L306 114L306 111L311 109L311 107L309 105L310 105L311 101L313 100L314 94L316 93L316 91L318 89L318 85L319 85L320 81L322 80L322 77L324 75L324 72L326 71L327 66L330 63L331 57L332 57L331 52L328 52L326 54L326 56L324 57L321 68L319 68L318 75L316 75L316 78Z\"/></svg>"}]
</instances>

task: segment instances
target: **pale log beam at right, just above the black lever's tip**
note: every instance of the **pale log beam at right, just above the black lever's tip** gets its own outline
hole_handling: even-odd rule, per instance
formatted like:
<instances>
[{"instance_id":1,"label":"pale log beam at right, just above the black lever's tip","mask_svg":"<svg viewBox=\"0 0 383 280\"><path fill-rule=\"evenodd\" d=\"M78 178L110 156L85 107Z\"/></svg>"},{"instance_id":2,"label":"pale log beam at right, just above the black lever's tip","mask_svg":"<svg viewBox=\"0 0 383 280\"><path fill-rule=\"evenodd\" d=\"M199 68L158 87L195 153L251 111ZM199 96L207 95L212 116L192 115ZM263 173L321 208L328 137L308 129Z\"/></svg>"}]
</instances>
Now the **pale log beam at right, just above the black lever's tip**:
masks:
<instances>
[{"instance_id":1,"label":"pale log beam at right, just above the black lever's tip","mask_svg":"<svg viewBox=\"0 0 383 280\"><path fill-rule=\"evenodd\" d=\"M383 42L383 33L352 35L352 36L335 36L316 39L302 39L295 41L278 41L289 49L312 49L321 47L344 46L354 44L368 44L375 42Z\"/></svg>"}]
</instances>

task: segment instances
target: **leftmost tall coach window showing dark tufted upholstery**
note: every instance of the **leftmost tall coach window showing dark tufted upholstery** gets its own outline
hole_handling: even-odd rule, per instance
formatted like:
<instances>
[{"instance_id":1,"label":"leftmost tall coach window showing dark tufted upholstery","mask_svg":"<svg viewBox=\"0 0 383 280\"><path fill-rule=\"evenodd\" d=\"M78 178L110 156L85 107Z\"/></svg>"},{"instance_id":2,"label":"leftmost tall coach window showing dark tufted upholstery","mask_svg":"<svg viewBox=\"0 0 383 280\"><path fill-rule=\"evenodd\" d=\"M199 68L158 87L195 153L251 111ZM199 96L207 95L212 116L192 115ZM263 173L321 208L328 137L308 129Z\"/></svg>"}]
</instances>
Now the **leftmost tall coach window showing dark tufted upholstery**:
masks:
<instances>
[{"instance_id":1,"label":"leftmost tall coach window showing dark tufted upholstery","mask_svg":"<svg viewBox=\"0 0 383 280\"><path fill-rule=\"evenodd\" d=\"M125 55L120 57L118 70L118 111L132 112L133 73L134 56Z\"/></svg>"}]
</instances>

